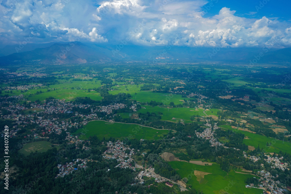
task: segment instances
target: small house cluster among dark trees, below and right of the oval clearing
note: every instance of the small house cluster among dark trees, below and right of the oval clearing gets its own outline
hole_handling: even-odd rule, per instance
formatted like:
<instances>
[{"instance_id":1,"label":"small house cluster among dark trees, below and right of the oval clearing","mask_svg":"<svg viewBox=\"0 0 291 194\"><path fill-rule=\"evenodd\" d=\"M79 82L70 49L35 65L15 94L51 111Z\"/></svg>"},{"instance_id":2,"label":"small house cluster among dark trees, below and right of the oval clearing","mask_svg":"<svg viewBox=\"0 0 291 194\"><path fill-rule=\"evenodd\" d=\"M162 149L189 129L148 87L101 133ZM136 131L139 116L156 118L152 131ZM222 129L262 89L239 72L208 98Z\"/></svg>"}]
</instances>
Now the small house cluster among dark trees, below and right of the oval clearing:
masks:
<instances>
[{"instance_id":1,"label":"small house cluster among dark trees, below and right of the oval clearing","mask_svg":"<svg viewBox=\"0 0 291 194\"><path fill-rule=\"evenodd\" d=\"M67 162L65 165L58 164L57 167L58 167L59 173L56 175L55 178L64 177L65 175L68 175L80 168L86 168L87 167L86 164L87 164L87 159L80 159L80 158L74 159L70 163Z\"/></svg>"}]
</instances>

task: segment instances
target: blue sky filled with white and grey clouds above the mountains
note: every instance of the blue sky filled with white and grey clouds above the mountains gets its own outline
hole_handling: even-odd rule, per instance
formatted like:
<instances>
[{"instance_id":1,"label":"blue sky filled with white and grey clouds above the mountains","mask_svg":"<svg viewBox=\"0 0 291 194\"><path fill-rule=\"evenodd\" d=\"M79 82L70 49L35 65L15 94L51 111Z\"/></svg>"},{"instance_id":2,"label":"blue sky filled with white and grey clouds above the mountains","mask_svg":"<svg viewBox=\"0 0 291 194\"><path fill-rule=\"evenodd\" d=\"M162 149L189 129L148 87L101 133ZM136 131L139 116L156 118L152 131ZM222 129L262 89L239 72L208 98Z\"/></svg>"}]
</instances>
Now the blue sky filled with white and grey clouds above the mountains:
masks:
<instances>
[{"instance_id":1,"label":"blue sky filled with white and grey clouds above the mountains","mask_svg":"<svg viewBox=\"0 0 291 194\"><path fill-rule=\"evenodd\" d=\"M0 0L2 45L291 47L290 1Z\"/></svg>"}]
</instances>

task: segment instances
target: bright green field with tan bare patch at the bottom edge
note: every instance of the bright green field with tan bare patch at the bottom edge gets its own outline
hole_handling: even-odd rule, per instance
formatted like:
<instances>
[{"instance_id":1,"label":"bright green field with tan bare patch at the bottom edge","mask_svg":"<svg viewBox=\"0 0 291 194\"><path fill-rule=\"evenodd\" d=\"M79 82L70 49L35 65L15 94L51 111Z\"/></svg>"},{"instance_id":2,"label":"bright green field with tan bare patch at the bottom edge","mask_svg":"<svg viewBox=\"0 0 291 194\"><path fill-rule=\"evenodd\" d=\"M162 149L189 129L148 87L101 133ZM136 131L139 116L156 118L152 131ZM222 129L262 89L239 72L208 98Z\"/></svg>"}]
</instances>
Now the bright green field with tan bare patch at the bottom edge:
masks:
<instances>
[{"instance_id":1,"label":"bright green field with tan bare patch at the bottom edge","mask_svg":"<svg viewBox=\"0 0 291 194\"><path fill-rule=\"evenodd\" d=\"M261 194L262 189L257 188L246 188L245 180L247 178L252 178L253 175L245 175L235 173L233 170L230 172L225 172L220 169L219 165L212 164L207 166L191 164L188 162L172 161L168 162L172 168L178 170L177 172L181 178L187 177L188 183L192 184L192 188L196 190L203 191L204 194L219 194L219 193L229 193L229 194ZM212 174L201 176L201 173L196 172L196 177L194 170L208 172ZM199 175L199 174L200 175ZM199 181L198 181L198 180Z\"/></svg>"}]
</instances>

